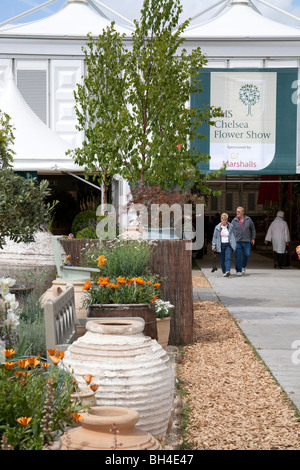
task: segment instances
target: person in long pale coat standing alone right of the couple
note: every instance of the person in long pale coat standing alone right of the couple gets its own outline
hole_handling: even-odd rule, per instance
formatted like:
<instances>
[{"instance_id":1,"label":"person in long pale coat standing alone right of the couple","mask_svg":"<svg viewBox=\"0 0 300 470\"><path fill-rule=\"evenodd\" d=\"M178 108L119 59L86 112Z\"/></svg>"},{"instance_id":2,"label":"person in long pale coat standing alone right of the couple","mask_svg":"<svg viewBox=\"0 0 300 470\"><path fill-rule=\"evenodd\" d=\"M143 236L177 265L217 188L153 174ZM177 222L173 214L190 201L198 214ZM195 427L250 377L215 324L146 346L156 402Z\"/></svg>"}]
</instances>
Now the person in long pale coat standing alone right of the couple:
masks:
<instances>
[{"instance_id":1,"label":"person in long pale coat standing alone right of the couple","mask_svg":"<svg viewBox=\"0 0 300 470\"><path fill-rule=\"evenodd\" d=\"M272 242L274 253L274 268L282 269L284 262L284 254L290 243L290 231L288 224L284 220L284 212L278 211L276 218L268 228L265 237L265 244Z\"/></svg>"}]
</instances>

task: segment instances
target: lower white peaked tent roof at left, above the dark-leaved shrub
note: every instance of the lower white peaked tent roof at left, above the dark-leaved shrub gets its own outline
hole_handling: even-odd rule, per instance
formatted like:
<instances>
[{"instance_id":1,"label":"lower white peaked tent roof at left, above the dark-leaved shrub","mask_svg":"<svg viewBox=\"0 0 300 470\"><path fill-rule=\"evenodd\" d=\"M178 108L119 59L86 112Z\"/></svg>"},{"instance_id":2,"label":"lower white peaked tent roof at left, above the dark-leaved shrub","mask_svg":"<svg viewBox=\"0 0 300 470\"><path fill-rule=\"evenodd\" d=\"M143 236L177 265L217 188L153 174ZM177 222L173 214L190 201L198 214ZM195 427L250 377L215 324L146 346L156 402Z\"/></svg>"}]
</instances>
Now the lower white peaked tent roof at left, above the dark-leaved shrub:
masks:
<instances>
[{"instance_id":1,"label":"lower white peaked tent roof at left, above the dark-leaved shrub","mask_svg":"<svg viewBox=\"0 0 300 470\"><path fill-rule=\"evenodd\" d=\"M70 168L72 159L66 156L70 148L67 142L49 129L27 105L14 83L12 73L0 94L0 109L10 116L15 128L15 170L50 170L55 165ZM74 169L73 163L71 167Z\"/></svg>"}]
</instances>

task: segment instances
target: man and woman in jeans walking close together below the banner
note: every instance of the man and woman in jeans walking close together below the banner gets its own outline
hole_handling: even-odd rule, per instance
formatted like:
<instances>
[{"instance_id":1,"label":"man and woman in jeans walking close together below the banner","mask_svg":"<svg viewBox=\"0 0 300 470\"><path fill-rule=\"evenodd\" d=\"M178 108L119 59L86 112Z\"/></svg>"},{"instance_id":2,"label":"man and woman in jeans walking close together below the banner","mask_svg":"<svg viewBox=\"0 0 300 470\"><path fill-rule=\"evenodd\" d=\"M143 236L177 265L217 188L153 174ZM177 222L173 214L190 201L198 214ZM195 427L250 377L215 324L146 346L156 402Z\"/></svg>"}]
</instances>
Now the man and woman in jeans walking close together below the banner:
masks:
<instances>
[{"instance_id":1,"label":"man and woman in jeans walking close together below the banner","mask_svg":"<svg viewBox=\"0 0 300 470\"><path fill-rule=\"evenodd\" d=\"M212 250L217 252L224 277L230 276L231 258L235 252L235 269L238 276L246 272L251 254L251 245L255 243L256 231L244 208L238 207L236 217L228 222L228 214L221 215L221 222L215 227L212 238Z\"/></svg>"}]
</instances>

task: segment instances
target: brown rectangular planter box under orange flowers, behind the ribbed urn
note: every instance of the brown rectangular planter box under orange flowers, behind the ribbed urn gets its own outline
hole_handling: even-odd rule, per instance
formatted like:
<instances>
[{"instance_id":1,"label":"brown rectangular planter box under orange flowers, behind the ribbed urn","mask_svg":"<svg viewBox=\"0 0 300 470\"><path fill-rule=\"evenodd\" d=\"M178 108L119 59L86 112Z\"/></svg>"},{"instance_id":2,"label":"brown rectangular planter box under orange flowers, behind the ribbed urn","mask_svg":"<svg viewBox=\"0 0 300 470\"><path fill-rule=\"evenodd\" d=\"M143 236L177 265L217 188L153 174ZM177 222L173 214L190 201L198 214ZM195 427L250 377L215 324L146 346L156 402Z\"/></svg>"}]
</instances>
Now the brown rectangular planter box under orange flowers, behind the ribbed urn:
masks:
<instances>
[{"instance_id":1,"label":"brown rectangular planter box under orange flowers, behind the ribbed urn","mask_svg":"<svg viewBox=\"0 0 300 470\"><path fill-rule=\"evenodd\" d=\"M157 340L156 313L147 304L103 304L88 308L89 318L140 317L145 321L144 334Z\"/></svg>"}]
</instances>

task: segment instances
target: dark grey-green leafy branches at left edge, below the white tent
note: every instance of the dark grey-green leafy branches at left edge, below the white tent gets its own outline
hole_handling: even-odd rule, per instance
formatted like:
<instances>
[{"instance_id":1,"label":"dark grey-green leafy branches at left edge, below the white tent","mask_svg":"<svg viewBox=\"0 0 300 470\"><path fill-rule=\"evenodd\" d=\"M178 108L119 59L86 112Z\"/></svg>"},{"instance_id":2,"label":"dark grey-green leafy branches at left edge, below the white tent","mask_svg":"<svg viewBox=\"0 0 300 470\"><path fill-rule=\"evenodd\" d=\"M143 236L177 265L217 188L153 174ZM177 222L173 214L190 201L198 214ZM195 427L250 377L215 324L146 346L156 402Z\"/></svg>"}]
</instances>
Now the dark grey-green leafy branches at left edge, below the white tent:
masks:
<instances>
[{"instance_id":1,"label":"dark grey-green leafy branches at left edge, below the white tent","mask_svg":"<svg viewBox=\"0 0 300 470\"><path fill-rule=\"evenodd\" d=\"M14 242L33 242L40 225L51 219L55 204L44 202L48 181L38 185L18 176L11 169L0 171L0 248L5 237Z\"/></svg>"}]
</instances>

